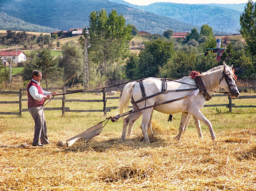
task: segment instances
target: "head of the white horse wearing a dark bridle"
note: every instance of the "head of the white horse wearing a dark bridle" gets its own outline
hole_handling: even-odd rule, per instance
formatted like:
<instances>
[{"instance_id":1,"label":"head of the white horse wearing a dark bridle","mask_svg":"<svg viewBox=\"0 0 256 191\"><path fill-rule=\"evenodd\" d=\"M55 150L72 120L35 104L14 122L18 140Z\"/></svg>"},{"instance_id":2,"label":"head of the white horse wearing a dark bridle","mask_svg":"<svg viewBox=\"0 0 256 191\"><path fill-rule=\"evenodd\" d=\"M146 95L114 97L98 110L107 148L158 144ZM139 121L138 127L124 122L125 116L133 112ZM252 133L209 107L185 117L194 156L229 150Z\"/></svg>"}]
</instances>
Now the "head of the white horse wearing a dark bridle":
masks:
<instances>
[{"instance_id":1,"label":"head of the white horse wearing a dark bridle","mask_svg":"<svg viewBox=\"0 0 256 191\"><path fill-rule=\"evenodd\" d=\"M227 66L225 61L223 62L223 74L219 80L219 85L230 93L232 98L239 96L239 91L235 84L236 76L233 74L232 66Z\"/></svg>"}]
</instances>

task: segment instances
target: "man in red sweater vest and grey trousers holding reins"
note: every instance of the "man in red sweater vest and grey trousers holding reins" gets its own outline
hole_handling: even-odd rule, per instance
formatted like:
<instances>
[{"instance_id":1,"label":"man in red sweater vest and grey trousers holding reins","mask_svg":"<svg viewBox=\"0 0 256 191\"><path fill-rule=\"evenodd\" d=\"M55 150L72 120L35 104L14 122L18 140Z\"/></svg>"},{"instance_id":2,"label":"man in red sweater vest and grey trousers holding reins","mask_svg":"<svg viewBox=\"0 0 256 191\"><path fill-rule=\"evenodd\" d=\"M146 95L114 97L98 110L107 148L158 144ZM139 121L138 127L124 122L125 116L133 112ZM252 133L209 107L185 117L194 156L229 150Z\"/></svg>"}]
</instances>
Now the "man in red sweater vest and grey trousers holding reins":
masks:
<instances>
[{"instance_id":1,"label":"man in red sweater vest and grey trousers holding reins","mask_svg":"<svg viewBox=\"0 0 256 191\"><path fill-rule=\"evenodd\" d=\"M44 117L43 102L45 99L50 99L52 95L59 94L58 92L44 91L40 86L42 80L42 72L33 70L32 80L27 87L28 92L28 110L35 121L33 146L44 146L49 144L47 137L47 126ZM40 139L40 142L39 142Z\"/></svg>"}]
</instances>

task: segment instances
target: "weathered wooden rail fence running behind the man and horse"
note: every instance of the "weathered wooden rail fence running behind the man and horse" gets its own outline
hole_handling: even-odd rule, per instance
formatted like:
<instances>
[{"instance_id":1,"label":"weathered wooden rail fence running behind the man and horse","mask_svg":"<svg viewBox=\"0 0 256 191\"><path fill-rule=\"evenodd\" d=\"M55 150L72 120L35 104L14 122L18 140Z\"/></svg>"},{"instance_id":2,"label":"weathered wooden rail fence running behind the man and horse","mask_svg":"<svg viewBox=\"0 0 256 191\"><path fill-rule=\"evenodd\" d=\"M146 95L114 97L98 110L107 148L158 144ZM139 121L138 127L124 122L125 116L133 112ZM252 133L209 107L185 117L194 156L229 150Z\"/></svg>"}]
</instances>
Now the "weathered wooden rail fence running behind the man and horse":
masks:
<instances>
[{"instance_id":1,"label":"weathered wooden rail fence running behind the man and horse","mask_svg":"<svg viewBox=\"0 0 256 191\"><path fill-rule=\"evenodd\" d=\"M56 88L44 88L44 90L54 90ZM247 89L256 89L256 87L240 87L239 90L247 90ZM62 100L62 107L54 107L49 108L45 107L44 110L61 110L62 115L65 115L65 112L104 112L104 115L107 114L107 112L110 112L111 109L116 109L115 107L106 107L106 102L108 99L119 99L119 97L106 97L106 92L111 92L111 90L122 90L122 88L103 88L102 90L85 90L84 92L88 93L96 93L96 92L102 92L103 98L102 100L74 100L74 99L66 99L66 96L63 95L62 97L54 97L53 100ZM11 115L22 115L22 112L28 112L28 109L22 109L22 101L27 101L28 99L22 99L22 92L26 91L25 88L20 89L20 91L0 91L0 94L18 94L19 95L19 101L0 101L0 104L8 104L8 103L17 103L19 104L19 112L0 112L0 114L11 114ZM66 88L62 89L63 92L66 92ZM216 94L212 95L212 97L219 97L223 96L222 94ZM239 96L235 99L255 99L256 95L251 96ZM228 104L216 104L216 105L204 105L204 107L220 107L220 106L226 106L229 108L229 111L232 112L232 108L238 108L238 107L256 107L256 105L249 105L249 106L236 106L234 103L232 103L232 98L228 96L229 103ZM94 109L94 110L72 110L69 107L65 107L65 102L103 102L103 109ZM47 102L46 102L47 103ZM131 106L130 106L131 107Z\"/></svg>"}]
</instances>

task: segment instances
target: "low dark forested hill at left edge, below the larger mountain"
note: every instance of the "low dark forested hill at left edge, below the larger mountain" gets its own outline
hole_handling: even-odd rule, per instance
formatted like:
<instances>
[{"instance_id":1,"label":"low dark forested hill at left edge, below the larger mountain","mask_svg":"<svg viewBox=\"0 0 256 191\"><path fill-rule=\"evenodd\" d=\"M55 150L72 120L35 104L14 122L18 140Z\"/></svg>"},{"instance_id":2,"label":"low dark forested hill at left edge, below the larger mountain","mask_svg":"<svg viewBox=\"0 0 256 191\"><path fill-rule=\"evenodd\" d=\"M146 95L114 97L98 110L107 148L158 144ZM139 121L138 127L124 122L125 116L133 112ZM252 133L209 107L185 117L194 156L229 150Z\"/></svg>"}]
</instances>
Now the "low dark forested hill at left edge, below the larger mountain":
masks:
<instances>
[{"instance_id":1,"label":"low dark forested hill at left edge, below the larger mountain","mask_svg":"<svg viewBox=\"0 0 256 191\"><path fill-rule=\"evenodd\" d=\"M58 29L27 23L24 20L0 12L0 30L52 32Z\"/></svg>"}]
</instances>

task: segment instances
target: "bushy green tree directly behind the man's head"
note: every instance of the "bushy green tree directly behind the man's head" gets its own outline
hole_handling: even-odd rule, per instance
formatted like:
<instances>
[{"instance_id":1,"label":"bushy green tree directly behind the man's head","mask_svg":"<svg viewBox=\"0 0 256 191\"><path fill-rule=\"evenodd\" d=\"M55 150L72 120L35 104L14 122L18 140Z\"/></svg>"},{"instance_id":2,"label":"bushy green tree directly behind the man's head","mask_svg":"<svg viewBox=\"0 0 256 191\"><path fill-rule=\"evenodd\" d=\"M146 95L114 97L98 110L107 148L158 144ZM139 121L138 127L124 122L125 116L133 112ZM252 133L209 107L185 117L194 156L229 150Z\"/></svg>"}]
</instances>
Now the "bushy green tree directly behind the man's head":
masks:
<instances>
[{"instance_id":1,"label":"bushy green tree directly behind the man's head","mask_svg":"<svg viewBox=\"0 0 256 191\"><path fill-rule=\"evenodd\" d=\"M30 55L32 59L26 61L22 77L24 80L30 80L33 70L39 70L43 73L45 85L48 87L49 80L58 80L62 76L62 69L58 67L58 60L51 56L50 50L40 49L37 54Z\"/></svg>"}]
</instances>

